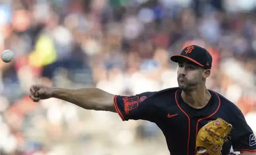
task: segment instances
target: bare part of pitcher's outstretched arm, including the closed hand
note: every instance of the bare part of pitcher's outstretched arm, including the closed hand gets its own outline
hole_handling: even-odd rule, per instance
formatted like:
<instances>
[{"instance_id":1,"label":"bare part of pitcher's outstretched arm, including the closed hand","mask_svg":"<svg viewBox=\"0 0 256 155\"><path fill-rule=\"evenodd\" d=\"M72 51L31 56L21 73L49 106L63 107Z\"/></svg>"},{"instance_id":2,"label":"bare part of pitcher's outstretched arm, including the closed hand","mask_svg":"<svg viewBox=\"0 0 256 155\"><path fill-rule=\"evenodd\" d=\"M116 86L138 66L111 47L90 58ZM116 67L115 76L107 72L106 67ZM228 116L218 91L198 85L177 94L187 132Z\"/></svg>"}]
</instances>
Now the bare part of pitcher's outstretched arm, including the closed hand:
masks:
<instances>
[{"instance_id":1,"label":"bare part of pitcher's outstretched arm, including the closed hand","mask_svg":"<svg viewBox=\"0 0 256 155\"><path fill-rule=\"evenodd\" d=\"M30 88L30 98L34 102L51 97L65 100L88 110L116 112L113 102L114 95L101 89L83 88L71 90L52 88L45 85L32 85Z\"/></svg>"}]
</instances>

